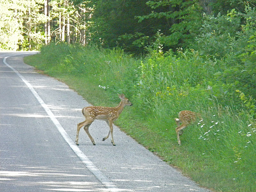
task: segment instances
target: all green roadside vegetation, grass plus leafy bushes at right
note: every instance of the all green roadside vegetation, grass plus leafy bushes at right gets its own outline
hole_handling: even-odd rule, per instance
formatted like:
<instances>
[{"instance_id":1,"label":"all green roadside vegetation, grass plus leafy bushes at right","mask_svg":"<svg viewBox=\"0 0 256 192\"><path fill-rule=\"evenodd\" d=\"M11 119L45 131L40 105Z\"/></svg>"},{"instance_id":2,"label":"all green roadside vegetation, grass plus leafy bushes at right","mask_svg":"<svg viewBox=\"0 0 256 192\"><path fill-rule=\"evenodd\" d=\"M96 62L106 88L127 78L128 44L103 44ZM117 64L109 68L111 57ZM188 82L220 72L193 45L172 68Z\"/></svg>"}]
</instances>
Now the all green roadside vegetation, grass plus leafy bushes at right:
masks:
<instances>
[{"instance_id":1,"label":"all green roadside vegetation, grass plus leafy bushes at right","mask_svg":"<svg viewBox=\"0 0 256 192\"><path fill-rule=\"evenodd\" d=\"M133 106L116 124L201 186L254 192L255 18L250 6L244 14L205 16L194 44L176 52L163 51L158 31L143 56L60 43L24 60L92 105L116 106L116 93L124 93ZM186 128L178 146L174 118L181 110L198 112L204 120Z\"/></svg>"}]
</instances>

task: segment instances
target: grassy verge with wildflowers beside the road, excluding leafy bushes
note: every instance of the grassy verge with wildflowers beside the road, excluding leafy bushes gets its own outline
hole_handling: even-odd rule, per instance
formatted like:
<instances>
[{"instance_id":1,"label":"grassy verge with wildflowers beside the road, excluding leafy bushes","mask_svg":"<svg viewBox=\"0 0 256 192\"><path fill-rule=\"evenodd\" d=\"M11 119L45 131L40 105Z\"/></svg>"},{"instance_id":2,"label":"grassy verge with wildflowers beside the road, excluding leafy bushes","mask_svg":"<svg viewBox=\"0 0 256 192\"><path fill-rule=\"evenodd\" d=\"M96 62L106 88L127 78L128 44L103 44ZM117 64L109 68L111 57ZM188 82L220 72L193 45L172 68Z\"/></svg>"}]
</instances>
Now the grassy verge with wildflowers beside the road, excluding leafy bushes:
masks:
<instances>
[{"instance_id":1,"label":"grassy verge with wildflowers beside the road, excluding leafy bushes","mask_svg":"<svg viewBox=\"0 0 256 192\"><path fill-rule=\"evenodd\" d=\"M116 93L124 93L133 106L116 124L201 186L256 191L255 123L238 110L236 94L225 93L228 85L213 75L221 65L195 51L135 58L120 49L65 44L45 46L24 60L93 105L116 106ZM174 118L181 110L199 112L204 121L189 126L178 146Z\"/></svg>"}]
</instances>

